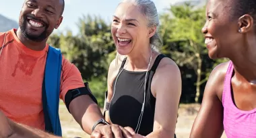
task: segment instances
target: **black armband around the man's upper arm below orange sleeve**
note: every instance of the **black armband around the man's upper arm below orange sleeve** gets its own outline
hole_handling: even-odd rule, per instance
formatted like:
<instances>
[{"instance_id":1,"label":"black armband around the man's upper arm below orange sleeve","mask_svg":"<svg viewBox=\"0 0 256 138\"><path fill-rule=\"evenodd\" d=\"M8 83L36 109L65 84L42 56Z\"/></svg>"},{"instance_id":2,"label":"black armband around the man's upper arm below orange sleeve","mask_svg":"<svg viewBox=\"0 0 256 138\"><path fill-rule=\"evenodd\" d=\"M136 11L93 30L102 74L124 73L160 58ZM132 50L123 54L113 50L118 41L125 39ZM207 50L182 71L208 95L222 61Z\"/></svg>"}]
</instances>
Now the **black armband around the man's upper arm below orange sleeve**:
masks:
<instances>
[{"instance_id":1,"label":"black armband around the man's upper arm below orange sleeve","mask_svg":"<svg viewBox=\"0 0 256 138\"><path fill-rule=\"evenodd\" d=\"M78 96L82 96L82 95L90 96L90 98L92 98L92 100L96 104L98 104L97 99L94 97L94 95L92 95L92 92L89 88L88 82L84 83L84 85L86 85L86 87L76 88L76 89L67 91L67 94L65 95L65 104L67 106L67 110L69 110L69 104L71 103L71 101L74 100L75 98L77 98Z\"/></svg>"}]
</instances>

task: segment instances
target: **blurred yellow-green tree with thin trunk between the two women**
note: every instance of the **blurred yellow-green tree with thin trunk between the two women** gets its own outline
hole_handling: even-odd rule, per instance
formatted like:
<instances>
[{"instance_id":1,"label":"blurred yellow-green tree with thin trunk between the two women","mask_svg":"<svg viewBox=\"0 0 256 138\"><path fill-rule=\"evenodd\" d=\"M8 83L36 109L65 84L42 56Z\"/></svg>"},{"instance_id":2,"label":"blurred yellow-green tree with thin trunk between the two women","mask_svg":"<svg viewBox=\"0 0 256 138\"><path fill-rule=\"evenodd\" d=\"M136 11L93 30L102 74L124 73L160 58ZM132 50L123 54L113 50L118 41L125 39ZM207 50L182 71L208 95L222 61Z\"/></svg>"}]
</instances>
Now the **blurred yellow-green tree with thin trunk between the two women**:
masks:
<instances>
[{"instance_id":1,"label":"blurred yellow-green tree with thin trunk between the two women","mask_svg":"<svg viewBox=\"0 0 256 138\"><path fill-rule=\"evenodd\" d=\"M166 21L163 25L165 31L162 32L166 38L164 51L169 52L180 67L186 65L195 71L197 75L195 102L199 102L201 75L203 75L202 55L207 54L204 37L201 34L201 28L205 24L205 9L193 9L192 5L185 3L185 5L171 6L168 11L172 14L166 13L162 16ZM169 50L169 44L172 43L178 43L179 47L176 50Z\"/></svg>"}]
</instances>

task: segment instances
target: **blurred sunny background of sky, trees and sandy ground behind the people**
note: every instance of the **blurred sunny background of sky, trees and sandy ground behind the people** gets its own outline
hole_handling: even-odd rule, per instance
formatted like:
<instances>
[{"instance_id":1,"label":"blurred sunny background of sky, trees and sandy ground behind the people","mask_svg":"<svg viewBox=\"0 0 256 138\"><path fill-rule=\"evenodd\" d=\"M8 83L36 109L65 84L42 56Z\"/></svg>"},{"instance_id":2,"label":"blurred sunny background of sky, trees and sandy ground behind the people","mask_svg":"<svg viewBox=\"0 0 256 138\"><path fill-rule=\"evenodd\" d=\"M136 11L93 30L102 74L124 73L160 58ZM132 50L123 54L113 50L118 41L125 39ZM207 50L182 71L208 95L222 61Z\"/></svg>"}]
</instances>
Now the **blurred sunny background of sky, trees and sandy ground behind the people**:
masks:
<instances>
[{"instance_id":1,"label":"blurred sunny background of sky, trees and sandy ground behind the people","mask_svg":"<svg viewBox=\"0 0 256 138\"><path fill-rule=\"evenodd\" d=\"M61 48L63 55L89 81L99 106L104 102L106 75L115 58L110 22L120 0L65 0L63 22L49 38L49 44ZM188 0L189 1L189 0ZM154 0L160 17L160 51L173 59L181 69L183 92L177 123L177 137L187 138L199 110L207 78L225 59L209 59L201 28L205 23L206 0ZM0 32L18 28L23 0L0 0ZM97 18L97 19L96 19ZM102 26L105 26L102 28ZM59 108L63 137L84 137L63 102ZM222 138L226 137L225 134Z\"/></svg>"}]
</instances>

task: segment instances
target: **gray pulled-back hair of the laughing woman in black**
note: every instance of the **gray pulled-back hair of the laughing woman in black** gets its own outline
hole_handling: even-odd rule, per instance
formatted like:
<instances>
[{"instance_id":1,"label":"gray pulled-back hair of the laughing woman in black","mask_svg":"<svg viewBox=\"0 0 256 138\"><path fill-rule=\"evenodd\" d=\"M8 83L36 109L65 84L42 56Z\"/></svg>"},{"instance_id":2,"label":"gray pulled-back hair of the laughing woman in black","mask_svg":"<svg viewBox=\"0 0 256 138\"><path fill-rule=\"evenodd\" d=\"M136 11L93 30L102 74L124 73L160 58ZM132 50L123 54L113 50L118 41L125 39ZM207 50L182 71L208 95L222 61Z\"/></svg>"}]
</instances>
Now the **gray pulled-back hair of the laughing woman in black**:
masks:
<instances>
[{"instance_id":1,"label":"gray pulled-back hair of the laughing woman in black","mask_svg":"<svg viewBox=\"0 0 256 138\"><path fill-rule=\"evenodd\" d=\"M121 3L133 3L139 7L141 13L146 16L146 20L148 21L148 27L156 26L156 32L154 36L150 38L150 46L154 48L154 50L158 51L158 48L162 46L162 40L158 33L158 26L159 26L159 18L158 18L158 11L156 9L156 5L153 1L150 0L123 0ZM122 61L122 56L117 53L116 57L116 65L119 61Z\"/></svg>"}]
</instances>

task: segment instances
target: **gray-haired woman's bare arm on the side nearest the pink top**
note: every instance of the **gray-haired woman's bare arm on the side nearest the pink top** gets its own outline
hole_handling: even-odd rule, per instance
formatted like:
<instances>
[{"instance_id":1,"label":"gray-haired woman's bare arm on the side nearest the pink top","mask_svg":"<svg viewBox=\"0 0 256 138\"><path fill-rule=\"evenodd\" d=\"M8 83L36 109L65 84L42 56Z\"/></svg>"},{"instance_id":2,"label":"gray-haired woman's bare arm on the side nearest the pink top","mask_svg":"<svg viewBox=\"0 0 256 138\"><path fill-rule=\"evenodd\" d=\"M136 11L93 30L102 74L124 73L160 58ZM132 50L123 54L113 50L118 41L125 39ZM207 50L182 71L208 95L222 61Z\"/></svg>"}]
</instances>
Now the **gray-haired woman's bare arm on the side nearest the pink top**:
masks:
<instances>
[{"instance_id":1,"label":"gray-haired woman's bare arm on the side nearest the pink top","mask_svg":"<svg viewBox=\"0 0 256 138\"><path fill-rule=\"evenodd\" d=\"M161 62L164 61L166 60L163 59ZM146 137L174 137L181 97L181 73L179 67L175 63L168 63L158 67L152 83L152 93L156 94L154 130Z\"/></svg>"}]
</instances>

